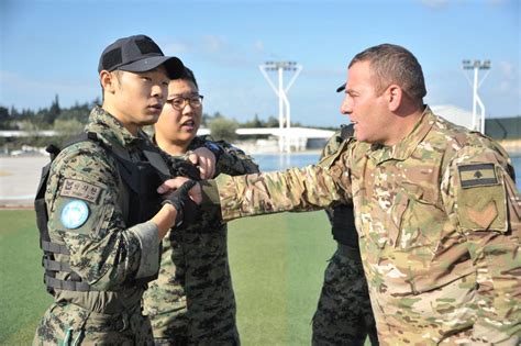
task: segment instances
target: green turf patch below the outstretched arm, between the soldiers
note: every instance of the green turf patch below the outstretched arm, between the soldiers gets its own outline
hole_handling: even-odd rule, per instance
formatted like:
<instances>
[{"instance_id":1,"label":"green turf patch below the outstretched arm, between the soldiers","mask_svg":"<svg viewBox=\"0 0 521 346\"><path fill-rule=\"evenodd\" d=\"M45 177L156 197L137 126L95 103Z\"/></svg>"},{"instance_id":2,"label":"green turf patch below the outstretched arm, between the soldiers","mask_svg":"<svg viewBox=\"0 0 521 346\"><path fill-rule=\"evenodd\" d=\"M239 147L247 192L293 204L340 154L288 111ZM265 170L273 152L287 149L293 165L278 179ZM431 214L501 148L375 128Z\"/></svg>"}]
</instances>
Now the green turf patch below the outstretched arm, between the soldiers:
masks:
<instances>
[{"instance_id":1,"label":"green turf patch below the outstretched arm, between the soldiers","mask_svg":"<svg viewBox=\"0 0 521 346\"><path fill-rule=\"evenodd\" d=\"M229 224L244 345L310 345L311 317L334 247L323 212L255 216Z\"/></svg>"}]
</instances>

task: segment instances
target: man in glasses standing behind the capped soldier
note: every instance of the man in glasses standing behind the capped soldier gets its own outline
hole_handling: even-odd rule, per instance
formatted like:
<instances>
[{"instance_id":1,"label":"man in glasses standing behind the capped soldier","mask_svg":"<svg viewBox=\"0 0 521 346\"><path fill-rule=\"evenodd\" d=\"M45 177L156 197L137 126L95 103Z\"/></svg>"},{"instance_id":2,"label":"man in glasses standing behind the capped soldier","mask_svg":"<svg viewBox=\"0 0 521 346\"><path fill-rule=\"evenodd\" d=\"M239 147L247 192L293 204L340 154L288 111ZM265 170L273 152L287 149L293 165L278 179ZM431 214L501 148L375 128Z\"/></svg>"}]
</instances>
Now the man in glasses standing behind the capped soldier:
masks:
<instances>
[{"instance_id":1,"label":"man in glasses standing behind the capped soldier","mask_svg":"<svg viewBox=\"0 0 521 346\"><path fill-rule=\"evenodd\" d=\"M200 171L201 178L257 172L257 165L242 150L196 137L201 101L196 78L187 68L169 83L167 103L154 126L156 144L176 159L191 159L197 166L196 157L211 161ZM204 213L163 239L159 277L144 299L156 345L240 344L226 235L219 214Z\"/></svg>"}]
</instances>

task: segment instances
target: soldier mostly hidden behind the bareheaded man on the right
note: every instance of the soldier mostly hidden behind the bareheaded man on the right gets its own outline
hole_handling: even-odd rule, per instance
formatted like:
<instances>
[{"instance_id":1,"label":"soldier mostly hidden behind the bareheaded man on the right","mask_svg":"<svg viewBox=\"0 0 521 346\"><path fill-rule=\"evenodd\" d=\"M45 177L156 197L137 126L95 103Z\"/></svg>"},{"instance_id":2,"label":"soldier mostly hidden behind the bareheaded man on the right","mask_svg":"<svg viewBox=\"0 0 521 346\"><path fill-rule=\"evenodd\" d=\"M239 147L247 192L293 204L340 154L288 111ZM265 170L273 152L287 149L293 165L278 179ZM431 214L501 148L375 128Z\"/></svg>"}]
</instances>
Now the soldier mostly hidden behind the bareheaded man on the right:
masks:
<instances>
[{"instance_id":1,"label":"soldier mostly hidden behind the bareheaded man on the right","mask_svg":"<svg viewBox=\"0 0 521 346\"><path fill-rule=\"evenodd\" d=\"M353 125L342 125L322 150L333 155L353 136ZM375 317L358 246L352 204L336 204L325 211L337 247L329 260L319 304L313 315L312 345L364 345L369 336L378 345Z\"/></svg>"}]
</instances>

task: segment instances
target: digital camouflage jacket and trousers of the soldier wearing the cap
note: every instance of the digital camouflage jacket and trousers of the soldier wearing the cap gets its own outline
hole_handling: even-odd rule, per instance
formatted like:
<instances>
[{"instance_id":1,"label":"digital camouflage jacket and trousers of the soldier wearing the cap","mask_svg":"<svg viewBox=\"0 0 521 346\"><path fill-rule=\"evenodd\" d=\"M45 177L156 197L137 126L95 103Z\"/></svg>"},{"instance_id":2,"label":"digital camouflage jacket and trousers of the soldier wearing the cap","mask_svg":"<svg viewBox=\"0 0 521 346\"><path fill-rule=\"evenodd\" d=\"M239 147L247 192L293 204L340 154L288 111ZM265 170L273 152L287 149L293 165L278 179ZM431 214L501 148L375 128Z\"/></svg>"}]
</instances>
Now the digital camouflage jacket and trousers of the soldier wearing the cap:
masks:
<instances>
[{"instance_id":1,"label":"digital camouflage jacket and trousers of the soldier wearing the cap","mask_svg":"<svg viewBox=\"0 0 521 346\"><path fill-rule=\"evenodd\" d=\"M142 147L153 145L145 133L132 135L100 107L90 113L86 132L103 146L118 146L133 163L143 161ZM130 226L130 189L115 158L96 142L64 148L51 166L45 191L51 242L69 255L56 260L70 266L90 291L56 289L55 304L40 323L34 344L82 343L152 344L149 323L141 314L145 286L136 279L159 269L157 226ZM67 270L56 279L69 278Z\"/></svg>"}]
</instances>

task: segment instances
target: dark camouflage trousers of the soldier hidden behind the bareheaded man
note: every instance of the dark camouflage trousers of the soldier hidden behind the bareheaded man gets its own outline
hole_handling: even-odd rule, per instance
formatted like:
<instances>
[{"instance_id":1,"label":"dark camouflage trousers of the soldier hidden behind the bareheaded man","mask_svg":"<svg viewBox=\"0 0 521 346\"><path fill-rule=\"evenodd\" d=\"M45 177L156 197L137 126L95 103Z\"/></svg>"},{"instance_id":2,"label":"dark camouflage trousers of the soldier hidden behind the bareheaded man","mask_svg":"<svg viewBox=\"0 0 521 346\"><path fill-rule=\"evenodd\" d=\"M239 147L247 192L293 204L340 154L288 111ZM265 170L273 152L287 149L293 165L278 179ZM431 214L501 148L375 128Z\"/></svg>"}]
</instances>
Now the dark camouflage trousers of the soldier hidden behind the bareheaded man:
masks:
<instances>
[{"instance_id":1,"label":"dark camouflage trousers of the soldier hidden behind the bareheaded man","mask_svg":"<svg viewBox=\"0 0 521 346\"><path fill-rule=\"evenodd\" d=\"M364 345L367 336L372 345L378 345L358 249L339 244L325 269L312 345Z\"/></svg>"}]
</instances>

